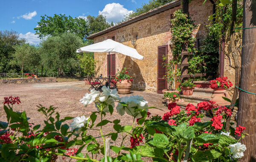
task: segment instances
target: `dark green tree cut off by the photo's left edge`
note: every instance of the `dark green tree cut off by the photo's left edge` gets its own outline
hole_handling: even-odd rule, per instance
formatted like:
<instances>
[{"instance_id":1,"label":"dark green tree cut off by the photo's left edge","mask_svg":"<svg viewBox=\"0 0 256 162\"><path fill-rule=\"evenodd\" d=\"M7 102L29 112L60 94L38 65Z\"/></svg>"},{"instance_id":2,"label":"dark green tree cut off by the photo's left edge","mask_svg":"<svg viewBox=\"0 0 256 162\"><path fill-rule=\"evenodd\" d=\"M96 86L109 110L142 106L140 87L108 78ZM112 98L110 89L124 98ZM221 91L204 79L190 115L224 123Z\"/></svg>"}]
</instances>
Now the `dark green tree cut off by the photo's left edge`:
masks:
<instances>
[{"instance_id":1,"label":"dark green tree cut off by the photo's left edge","mask_svg":"<svg viewBox=\"0 0 256 162\"><path fill-rule=\"evenodd\" d=\"M12 54L15 46L25 43L25 39L20 39L16 31L0 31L0 73L12 70Z\"/></svg>"}]
</instances>

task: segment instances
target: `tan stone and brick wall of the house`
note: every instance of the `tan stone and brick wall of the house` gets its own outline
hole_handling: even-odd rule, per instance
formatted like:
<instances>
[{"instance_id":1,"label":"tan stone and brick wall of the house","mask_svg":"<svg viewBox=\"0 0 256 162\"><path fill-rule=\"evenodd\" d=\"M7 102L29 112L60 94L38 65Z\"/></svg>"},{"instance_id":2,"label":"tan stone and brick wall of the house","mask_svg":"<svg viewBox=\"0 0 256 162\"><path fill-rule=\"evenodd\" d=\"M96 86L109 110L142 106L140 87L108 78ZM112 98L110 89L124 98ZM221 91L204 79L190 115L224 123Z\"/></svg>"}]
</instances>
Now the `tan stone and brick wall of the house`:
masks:
<instances>
[{"instance_id":1,"label":"tan stone and brick wall of the house","mask_svg":"<svg viewBox=\"0 0 256 162\"><path fill-rule=\"evenodd\" d=\"M189 4L189 13L198 25L194 36L201 39L206 34L205 26L208 24L209 15L212 14L210 1L207 1L204 6L202 3L201 0L192 0ZM178 9L181 9L181 6L94 38L94 43L97 43L115 36L115 41L135 48L140 55L144 56L143 60L138 60L120 53L116 54L116 71L126 67L128 74L134 78L133 89L157 91L157 47L168 45L169 58L172 56L171 45L169 45L172 37L170 19ZM136 36L136 45L131 45L131 40ZM107 53L94 53L94 58L99 61L96 64L96 76L100 74L107 76Z\"/></svg>"}]
</instances>

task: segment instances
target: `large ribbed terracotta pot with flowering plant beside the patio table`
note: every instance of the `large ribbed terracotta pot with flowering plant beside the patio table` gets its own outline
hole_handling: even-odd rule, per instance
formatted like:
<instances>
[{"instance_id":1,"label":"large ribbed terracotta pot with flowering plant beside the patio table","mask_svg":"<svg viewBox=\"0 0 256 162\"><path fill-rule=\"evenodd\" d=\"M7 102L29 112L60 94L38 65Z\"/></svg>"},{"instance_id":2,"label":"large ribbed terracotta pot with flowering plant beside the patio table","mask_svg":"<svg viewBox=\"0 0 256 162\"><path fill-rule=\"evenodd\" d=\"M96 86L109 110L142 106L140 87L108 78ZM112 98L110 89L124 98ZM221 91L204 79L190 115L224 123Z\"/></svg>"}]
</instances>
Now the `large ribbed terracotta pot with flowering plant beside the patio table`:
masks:
<instances>
[{"instance_id":1,"label":"large ribbed terracotta pot with flowering plant beside the patio table","mask_svg":"<svg viewBox=\"0 0 256 162\"><path fill-rule=\"evenodd\" d=\"M116 74L114 78L116 88L119 94L129 94L131 90L132 76L128 75L126 68Z\"/></svg>"}]
</instances>

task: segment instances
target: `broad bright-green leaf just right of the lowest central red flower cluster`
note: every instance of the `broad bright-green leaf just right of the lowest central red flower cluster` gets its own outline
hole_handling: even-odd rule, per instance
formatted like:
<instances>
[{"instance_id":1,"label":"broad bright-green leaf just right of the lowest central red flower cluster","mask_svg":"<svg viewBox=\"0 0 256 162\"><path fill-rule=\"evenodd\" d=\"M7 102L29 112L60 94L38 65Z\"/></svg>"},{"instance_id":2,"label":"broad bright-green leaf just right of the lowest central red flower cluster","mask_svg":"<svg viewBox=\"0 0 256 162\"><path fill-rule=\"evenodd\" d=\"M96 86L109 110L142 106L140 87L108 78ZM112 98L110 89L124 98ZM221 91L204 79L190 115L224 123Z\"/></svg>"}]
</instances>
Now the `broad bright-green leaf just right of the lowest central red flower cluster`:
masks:
<instances>
[{"instance_id":1,"label":"broad bright-green leaf just right of the lowest central red flower cluster","mask_svg":"<svg viewBox=\"0 0 256 162\"><path fill-rule=\"evenodd\" d=\"M153 140L149 141L156 148L165 149L169 145L169 140L164 134L154 134Z\"/></svg>"}]
</instances>

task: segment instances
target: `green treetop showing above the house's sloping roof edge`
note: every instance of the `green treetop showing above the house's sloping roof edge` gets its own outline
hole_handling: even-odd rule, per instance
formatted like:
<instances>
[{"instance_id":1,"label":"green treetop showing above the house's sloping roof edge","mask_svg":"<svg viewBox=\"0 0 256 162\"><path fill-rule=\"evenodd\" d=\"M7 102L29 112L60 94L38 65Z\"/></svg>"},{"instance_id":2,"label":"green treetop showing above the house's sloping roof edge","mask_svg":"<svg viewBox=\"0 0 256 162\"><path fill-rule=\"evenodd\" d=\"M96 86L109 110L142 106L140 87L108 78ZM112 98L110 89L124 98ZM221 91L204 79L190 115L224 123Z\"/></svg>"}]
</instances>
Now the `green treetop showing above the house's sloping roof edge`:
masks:
<instances>
[{"instance_id":1,"label":"green treetop showing above the house's sloping roof edge","mask_svg":"<svg viewBox=\"0 0 256 162\"><path fill-rule=\"evenodd\" d=\"M127 14L124 18L125 20L129 20L131 17L139 16L140 14L144 14L151 9L157 8L159 6L163 6L166 3L170 3L172 0L149 0L149 3L143 3L140 8L136 8L136 11L133 11L130 14Z\"/></svg>"}]
</instances>

